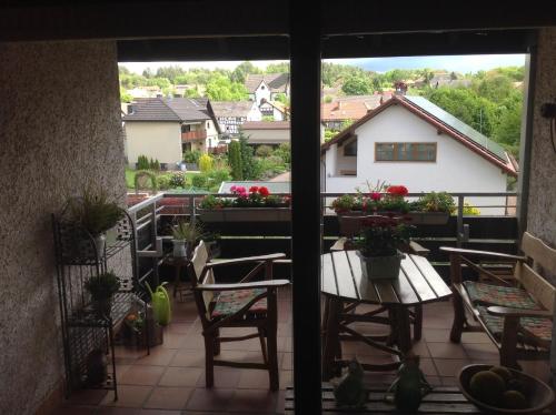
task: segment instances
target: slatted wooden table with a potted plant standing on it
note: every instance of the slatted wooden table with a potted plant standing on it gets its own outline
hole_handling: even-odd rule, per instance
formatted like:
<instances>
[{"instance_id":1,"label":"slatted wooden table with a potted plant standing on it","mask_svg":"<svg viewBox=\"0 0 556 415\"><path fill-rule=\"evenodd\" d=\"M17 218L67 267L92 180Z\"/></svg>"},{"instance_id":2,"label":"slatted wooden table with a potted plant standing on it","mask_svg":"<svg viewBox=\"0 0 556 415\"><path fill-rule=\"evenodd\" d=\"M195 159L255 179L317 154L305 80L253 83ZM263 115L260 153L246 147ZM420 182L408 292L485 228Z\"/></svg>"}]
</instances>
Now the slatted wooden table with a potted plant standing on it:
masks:
<instances>
[{"instance_id":1,"label":"slatted wooden table with a potted plant standing on it","mask_svg":"<svg viewBox=\"0 0 556 415\"><path fill-rule=\"evenodd\" d=\"M409 307L439 301L451 291L427 259L406 254L396 280L368 280L361 274L360 260L355 251L338 251L321 256L321 291L326 296L324 313L322 378L338 373L341 361L340 340L356 340L391 353L394 363L366 364L371 371L395 370L399 358L411 348ZM383 305L388 316L375 313L355 314L359 304ZM349 327L356 322L388 324L385 336L363 335ZM395 347L396 345L397 347Z\"/></svg>"}]
</instances>

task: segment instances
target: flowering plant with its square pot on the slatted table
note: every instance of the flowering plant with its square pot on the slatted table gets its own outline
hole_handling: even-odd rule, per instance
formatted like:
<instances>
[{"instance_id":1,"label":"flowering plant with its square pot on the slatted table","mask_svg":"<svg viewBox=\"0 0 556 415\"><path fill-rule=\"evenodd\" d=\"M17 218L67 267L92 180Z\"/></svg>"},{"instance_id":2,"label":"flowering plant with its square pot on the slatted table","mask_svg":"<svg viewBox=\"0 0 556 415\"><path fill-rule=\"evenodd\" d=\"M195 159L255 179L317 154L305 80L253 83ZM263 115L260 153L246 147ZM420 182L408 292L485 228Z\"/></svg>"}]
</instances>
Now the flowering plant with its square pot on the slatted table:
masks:
<instances>
[{"instance_id":1,"label":"flowering plant with its square pot on the slatted table","mask_svg":"<svg viewBox=\"0 0 556 415\"><path fill-rule=\"evenodd\" d=\"M399 249L409 243L411 226L401 217L374 216L363 221L354 243L367 279L397 279L403 254Z\"/></svg>"}]
</instances>

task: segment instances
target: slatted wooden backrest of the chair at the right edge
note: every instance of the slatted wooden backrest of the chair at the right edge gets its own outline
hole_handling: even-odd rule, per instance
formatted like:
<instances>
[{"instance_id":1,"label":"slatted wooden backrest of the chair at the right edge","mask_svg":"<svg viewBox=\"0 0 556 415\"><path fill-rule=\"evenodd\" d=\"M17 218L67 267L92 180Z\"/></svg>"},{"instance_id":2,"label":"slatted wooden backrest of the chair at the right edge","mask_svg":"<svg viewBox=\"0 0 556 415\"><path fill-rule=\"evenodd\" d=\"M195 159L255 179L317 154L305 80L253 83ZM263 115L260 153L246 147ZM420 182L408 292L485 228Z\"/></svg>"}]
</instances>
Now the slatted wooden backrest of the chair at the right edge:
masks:
<instances>
[{"instance_id":1,"label":"slatted wooden backrest of the chair at the right edge","mask_svg":"<svg viewBox=\"0 0 556 415\"><path fill-rule=\"evenodd\" d=\"M553 312L556 303L556 287L542 275L556 275L556 250L542 240L525 232L522 239L522 251L533 263L519 262L516 265L515 277L524 289L543 306Z\"/></svg>"}]
</instances>

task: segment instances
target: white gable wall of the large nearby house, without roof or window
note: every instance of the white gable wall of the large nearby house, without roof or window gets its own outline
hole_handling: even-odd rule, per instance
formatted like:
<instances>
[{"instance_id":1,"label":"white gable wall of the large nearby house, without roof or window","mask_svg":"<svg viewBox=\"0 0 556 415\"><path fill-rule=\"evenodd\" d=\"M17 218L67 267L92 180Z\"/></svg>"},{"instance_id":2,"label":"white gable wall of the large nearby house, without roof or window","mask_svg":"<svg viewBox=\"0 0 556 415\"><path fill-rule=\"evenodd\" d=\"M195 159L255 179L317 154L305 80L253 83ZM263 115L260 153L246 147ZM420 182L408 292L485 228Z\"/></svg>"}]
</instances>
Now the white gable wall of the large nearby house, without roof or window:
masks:
<instances>
[{"instance_id":1,"label":"white gable wall of the large nearby house, without roof or window","mask_svg":"<svg viewBox=\"0 0 556 415\"><path fill-rule=\"evenodd\" d=\"M437 130L399 105L393 105L356 129L358 138L357 178L334 178L348 166L342 148L338 148L337 170L327 178L328 192L353 192L368 180L404 184L409 192L505 192L506 174L493 163ZM375 142L435 142L436 162L376 162ZM351 164L353 165L353 164ZM469 199L474 205L503 204L499 198ZM483 214L503 213L481 209Z\"/></svg>"}]
</instances>

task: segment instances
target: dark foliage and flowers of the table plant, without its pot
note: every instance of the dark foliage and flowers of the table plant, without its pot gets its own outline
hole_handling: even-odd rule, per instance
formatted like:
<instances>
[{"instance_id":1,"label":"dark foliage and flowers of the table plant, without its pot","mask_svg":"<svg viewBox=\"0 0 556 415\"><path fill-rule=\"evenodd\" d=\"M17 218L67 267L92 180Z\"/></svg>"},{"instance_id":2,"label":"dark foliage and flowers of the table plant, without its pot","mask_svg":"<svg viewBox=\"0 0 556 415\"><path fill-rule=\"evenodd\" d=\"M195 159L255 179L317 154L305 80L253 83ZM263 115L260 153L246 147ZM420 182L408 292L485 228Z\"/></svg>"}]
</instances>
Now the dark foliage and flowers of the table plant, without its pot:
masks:
<instances>
[{"instance_id":1,"label":"dark foliage and flowers of the table plant, without its pot","mask_svg":"<svg viewBox=\"0 0 556 415\"><path fill-rule=\"evenodd\" d=\"M363 230L355 245L363 256L389 256L409 243L413 226L399 217L376 216L363 221Z\"/></svg>"}]
</instances>

